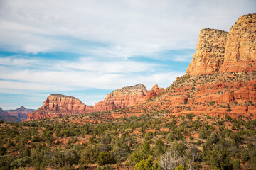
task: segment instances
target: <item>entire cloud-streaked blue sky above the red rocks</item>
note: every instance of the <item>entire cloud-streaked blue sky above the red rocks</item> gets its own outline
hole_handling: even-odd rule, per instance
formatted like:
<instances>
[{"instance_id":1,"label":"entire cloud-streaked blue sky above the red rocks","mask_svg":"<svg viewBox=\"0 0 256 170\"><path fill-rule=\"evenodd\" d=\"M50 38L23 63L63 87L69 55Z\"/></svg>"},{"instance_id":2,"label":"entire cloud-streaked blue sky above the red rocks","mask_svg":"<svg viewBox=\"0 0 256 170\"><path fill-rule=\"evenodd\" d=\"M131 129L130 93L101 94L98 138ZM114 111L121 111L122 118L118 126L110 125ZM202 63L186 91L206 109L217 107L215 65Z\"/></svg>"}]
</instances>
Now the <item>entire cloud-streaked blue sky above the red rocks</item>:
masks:
<instances>
[{"instance_id":1,"label":"entire cloud-streaked blue sky above the red rocks","mask_svg":"<svg viewBox=\"0 0 256 170\"><path fill-rule=\"evenodd\" d=\"M102 101L142 83L166 88L199 31L228 31L254 0L0 0L0 107L41 107L49 94Z\"/></svg>"}]
</instances>

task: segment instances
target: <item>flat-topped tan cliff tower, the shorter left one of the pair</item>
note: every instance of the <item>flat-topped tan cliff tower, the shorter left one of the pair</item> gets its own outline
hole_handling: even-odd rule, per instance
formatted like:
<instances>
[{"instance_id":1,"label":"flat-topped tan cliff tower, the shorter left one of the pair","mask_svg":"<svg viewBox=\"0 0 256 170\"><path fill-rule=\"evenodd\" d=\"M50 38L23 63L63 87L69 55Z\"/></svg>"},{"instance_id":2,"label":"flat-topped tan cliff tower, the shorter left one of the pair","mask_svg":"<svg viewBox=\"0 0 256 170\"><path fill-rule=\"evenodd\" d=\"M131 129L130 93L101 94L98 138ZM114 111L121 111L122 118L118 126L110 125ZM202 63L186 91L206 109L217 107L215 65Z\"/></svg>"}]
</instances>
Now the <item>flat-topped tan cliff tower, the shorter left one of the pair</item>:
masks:
<instances>
[{"instance_id":1,"label":"flat-topped tan cliff tower, the shorter left one of the pair","mask_svg":"<svg viewBox=\"0 0 256 170\"><path fill-rule=\"evenodd\" d=\"M223 64L228 32L203 29L200 31L196 52L187 73L191 75L212 74Z\"/></svg>"}]
</instances>

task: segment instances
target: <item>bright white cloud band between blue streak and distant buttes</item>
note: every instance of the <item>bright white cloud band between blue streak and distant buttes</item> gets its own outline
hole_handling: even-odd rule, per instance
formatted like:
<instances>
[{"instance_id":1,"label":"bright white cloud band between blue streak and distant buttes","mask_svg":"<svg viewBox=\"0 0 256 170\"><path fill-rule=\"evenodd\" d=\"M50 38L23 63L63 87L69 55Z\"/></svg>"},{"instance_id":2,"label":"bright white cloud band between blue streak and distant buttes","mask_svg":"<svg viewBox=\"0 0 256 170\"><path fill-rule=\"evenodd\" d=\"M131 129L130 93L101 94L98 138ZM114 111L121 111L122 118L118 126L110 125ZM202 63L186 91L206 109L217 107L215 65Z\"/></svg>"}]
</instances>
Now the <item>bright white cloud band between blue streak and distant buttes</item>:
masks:
<instances>
[{"instance_id":1,"label":"bright white cloud band between blue streak and distant buttes","mask_svg":"<svg viewBox=\"0 0 256 170\"><path fill-rule=\"evenodd\" d=\"M0 89L74 91L78 89L119 89L144 83L151 88L169 86L180 72L157 72L158 64L146 62L80 58L78 61L48 62L39 59L1 58ZM48 64L45 64L48 63ZM28 67L31 65L31 67ZM34 66L34 67L32 67Z\"/></svg>"}]
</instances>

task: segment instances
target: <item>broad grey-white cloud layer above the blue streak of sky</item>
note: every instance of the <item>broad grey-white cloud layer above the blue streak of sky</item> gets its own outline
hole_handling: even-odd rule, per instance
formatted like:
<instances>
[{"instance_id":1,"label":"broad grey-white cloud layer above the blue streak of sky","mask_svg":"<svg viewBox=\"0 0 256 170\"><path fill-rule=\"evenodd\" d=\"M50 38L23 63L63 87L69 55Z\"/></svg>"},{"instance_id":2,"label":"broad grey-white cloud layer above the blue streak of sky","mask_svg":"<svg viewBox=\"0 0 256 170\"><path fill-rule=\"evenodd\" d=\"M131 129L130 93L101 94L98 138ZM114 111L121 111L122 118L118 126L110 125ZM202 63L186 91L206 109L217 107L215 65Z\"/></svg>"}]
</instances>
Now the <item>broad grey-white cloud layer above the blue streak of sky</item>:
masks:
<instances>
[{"instance_id":1,"label":"broad grey-white cloud layer above the blue streak of sky","mask_svg":"<svg viewBox=\"0 0 256 170\"><path fill-rule=\"evenodd\" d=\"M95 50L113 57L194 48L201 28L228 30L240 15L255 12L255 3L253 0L2 1L1 46L32 53L90 51L82 43L68 42L68 38L73 38L106 44L103 49ZM64 42L63 37L67 38Z\"/></svg>"}]
</instances>

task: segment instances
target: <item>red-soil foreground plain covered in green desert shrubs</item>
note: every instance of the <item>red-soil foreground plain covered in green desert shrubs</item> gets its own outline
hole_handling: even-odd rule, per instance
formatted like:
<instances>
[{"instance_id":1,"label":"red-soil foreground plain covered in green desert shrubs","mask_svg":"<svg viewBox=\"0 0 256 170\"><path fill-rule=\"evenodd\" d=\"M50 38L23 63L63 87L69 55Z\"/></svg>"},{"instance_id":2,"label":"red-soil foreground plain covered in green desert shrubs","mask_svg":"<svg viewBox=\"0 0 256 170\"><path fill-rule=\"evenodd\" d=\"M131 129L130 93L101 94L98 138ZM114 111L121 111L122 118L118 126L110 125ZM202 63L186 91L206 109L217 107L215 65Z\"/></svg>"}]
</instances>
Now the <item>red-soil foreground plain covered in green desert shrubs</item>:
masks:
<instances>
[{"instance_id":1,"label":"red-soil foreground plain covered in green desert shrubs","mask_svg":"<svg viewBox=\"0 0 256 170\"><path fill-rule=\"evenodd\" d=\"M82 114L1 123L1 168L255 169L256 120L167 116L145 113L99 124L80 123L88 119Z\"/></svg>"}]
</instances>

